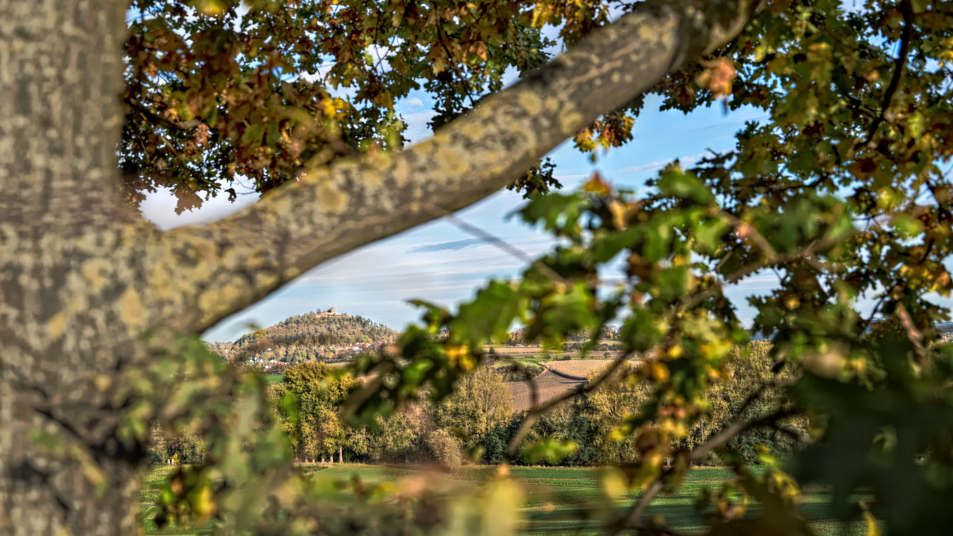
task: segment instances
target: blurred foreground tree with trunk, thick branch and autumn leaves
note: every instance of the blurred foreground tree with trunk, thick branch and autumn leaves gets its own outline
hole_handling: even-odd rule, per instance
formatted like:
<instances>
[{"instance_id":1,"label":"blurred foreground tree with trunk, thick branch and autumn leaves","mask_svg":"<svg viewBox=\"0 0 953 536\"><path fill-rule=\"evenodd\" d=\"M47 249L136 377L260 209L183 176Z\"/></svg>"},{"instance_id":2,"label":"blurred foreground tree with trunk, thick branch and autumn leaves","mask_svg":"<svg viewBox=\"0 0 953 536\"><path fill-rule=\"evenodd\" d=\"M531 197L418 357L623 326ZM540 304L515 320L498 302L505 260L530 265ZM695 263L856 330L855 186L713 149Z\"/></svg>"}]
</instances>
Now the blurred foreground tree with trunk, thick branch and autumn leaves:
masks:
<instances>
[{"instance_id":1,"label":"blurred foreground tree with trunk, thick branch and autumn leaves","mask_svg":"<svg viewBox=\"0 0 953 536\"><path fill-rule=\"evenodd\" d=\"M779 288L752 299L751 327L772 338L778 370L801 366L791 393L818 416L817 444L799 455L796 474L831 484L845 518L948 530L953 488L933 475L950 470L953 372L946 354L930 350L946 311L928 299L951 286L943 261L953 207L941 167L953 155L948 3L846 11L834 0L653 1L621 4L632 12L611 24L601 3L499 3L481 29L469 5L394 4L399 16L387 18L376 4L365 13L365 4L253 2L247 19L232 3L193 5L137 2L130 37L121 2L0 0L5 531L134 530L153 421L192 423L208 445L206 466L174 477L180 493L162 505L163 520L214 515L225 530L262 533L294 524L343 533L371 518L385 520L368 525L375 531L404 528L403 514L366 505L328 519L327 497L290 468L261 380L189 336L358 245L507 185L545 190L552 168L539 158L570 137L583 151L622 144L645 92L659 93L663 108L723 98L727 110L752 106L767 118L747 124L731 151L693 169L669 166L643 196L595 177L577 193L533 198L523 218L561 245L457 314L427 305L424 325L401 340L402 359L358 362L379 376L357 390L348 416L369 423L421 386L450 393L515 320L526 323L526 340L557 345L598 334L627 310L619 344L652 358L635 374L658 403L623 419L639 444L630 484L645 493L608 529L654 530L646 505L692 462L783 417L736 419L679 448L704 418L732 345L749 336L723 286L774 270ZM308 31L326 31L337 48L290 38L313 21ZM541 44L544 23L562 25L567 52L478 103L461 96L499 88L506 66L541 61L524 45ZM449 28L458 30L450 38L441 34ZM386 76L358 53L381 43L375 35L395 47ZM511 55L494 55L510 44ZM325 53L337 54L331 86L306 83L302 73L317 72ZM400 61L417 63L406 73ZM286 68L297 77L277 74ZM416 79L446 95L444 117L466 113L396 151L390 102ZM335 100L333 86L347 83L359 90L354 100ZM355 113L355 103L368 104ZM233 174L270 192L219 222L163 233L129 204L169 185L187 208ZM599 296L598 269L614 258L625 258L624 288ZM860 315L861 296L875 298L873 313ZM549 407L527 415L508 456ZM547 444L553 455L563 448ZM789 493L796 487L778 484L790 477L735 468L733 489L765 507L738 520L720 505L716 531L809 532ZM512 505L505 479L491 487L479 504ZM859 489L877 497L873 510L854 502Z\"/></svg>"}]
</instances>

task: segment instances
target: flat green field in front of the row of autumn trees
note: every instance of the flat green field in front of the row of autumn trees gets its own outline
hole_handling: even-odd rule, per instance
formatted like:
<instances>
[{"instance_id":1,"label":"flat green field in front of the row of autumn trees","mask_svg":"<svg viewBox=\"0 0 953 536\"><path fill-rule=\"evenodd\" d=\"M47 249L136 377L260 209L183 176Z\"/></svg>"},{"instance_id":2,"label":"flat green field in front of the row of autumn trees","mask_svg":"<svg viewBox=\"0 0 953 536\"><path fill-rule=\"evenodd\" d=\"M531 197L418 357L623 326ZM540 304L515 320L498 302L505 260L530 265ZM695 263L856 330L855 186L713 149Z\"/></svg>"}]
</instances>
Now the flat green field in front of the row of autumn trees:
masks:
<instances>
[{"instance_id":1,"label":"flat green field in front of the row of autumn trees","mask_svg":"<svg viewBox=\"0 0 953 536\"><path fill-rule=\"evenodd\" d=\"M453 479L464 483L484 481L496 467L464 467ZM757 468L756 468L757 470ZM366 464L335 464L330 467L317 465L305 467L306 472L316 472L314 478L349 482L355 476L368 484L382 481L399 481L412 474L414 469ZM158 499L157 488L172 472L172 467L160 465L148 474L142 490L143 528L146 534L206 534L212 526L203 529L172 529L159 532L151 523ZM526 517L526 534L599 534L602 523L598 511L592 507L600 504L602 490L599 484L602 469L591 467L513 467L513 478L523 484L526 500L523 505ZM703 528L702 515L696 510L695 501L704 487L718 489L720 483L731 478L729 469L700 467L688 473L679 491L674 495L660 495L650 506L649 516L661 516L673 531L699 533ZM627 507L638 497L631 492L619 507ZM824 518L825 496L821 493L806 493L801 513L812 523L819 535L861 535L860 524L842 525ZM588 514L585 514L589 511ZM603 512L603 515L606 512ZM589 516L580 519L580 514Z\"/></svg>"}]
</instances>

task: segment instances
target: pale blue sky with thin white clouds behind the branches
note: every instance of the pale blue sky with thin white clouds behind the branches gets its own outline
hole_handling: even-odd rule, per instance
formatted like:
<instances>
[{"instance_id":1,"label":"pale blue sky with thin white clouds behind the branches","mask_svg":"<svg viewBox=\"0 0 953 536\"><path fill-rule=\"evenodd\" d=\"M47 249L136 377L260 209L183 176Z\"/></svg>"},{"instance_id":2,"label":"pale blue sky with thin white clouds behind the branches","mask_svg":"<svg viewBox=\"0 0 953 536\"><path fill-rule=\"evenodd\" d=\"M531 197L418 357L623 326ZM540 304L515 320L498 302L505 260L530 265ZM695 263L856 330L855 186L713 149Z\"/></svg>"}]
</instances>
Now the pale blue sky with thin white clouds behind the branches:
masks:
<instances>
[{"instance_id":1,"label":"pale blue sky with thin white clouds behind the branches","mask_svg":"<svg viewBox=\"0 0 953 536\"><path fill-rule=\"evenodd\" d=\"M407 135L414 142L430 135L426 126L433 113L430 104L425 93L414 93L398 106L409 124ZM650 97L636 121L634 139L625 147L600 155L596 163L580 155L571 143L559 146L550 156L558 164L557 175L565 189L577 187L598 171L618 186L638 192L646 178L674 158L691 163L708 150L729 149L734 144L733 134L744 122L762 116L754 109L724 113L720 106L689 114L659 112L658 100ZM218 197L200 210L176 216L172 197L156 194L149 196L142 208L145 216L169 229L227 216L255 198L245 195L238 202L229 203ZM507 217L523 203L521 196L502 190L459 211L457 216L537 256L552 245L552 239L515 217ZM403 329L419 317L408 299L428 299L454 307L473 297L490 278L513 278L523 267L520 259L441 218L315 267L268 298L222 320L203 338L234 340L253 326L273 325L294 315L329 307ZM762 293L773 288L776 280L774 275L747 278L731 294L741 298ZM750 311L740 312L742 317L750 318Z\"/></svg>"}]
</instances>

